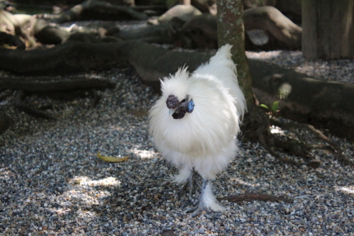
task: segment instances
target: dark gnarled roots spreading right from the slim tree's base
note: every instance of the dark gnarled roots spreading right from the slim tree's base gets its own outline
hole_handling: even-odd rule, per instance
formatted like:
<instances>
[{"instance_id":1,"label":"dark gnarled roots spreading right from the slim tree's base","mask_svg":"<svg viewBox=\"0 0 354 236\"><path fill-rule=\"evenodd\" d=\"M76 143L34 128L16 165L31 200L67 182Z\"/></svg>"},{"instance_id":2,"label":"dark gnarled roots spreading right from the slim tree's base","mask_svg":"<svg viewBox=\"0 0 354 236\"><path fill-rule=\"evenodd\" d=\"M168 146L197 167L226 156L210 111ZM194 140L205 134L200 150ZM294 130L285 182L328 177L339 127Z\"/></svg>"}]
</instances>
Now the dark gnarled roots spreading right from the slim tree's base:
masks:
<instances>
[{"instance_id":1,"label":"dark gnarled roots spreading right from the slim tree's base","mask_svg":"<svg viewBox=\"0 0 354 236\"><path fill-rule=\"evenodd\" d=\"M292 164L296 167L300 167L302 165L295 160L282 157L279 152L295 154L302 157L307 164L307 167L316 169L319 167L321 162L312 156L310 150L321 149L329 150L329 152L331 152L339 161L348 164L351 167L354 166L353 161L343 156L341 147L329 140L329 137L326 137L326 135L321 133L320 130L317 130L312 125L302 123L284 123L275 118L269 118L264 111L253 104L249 106L249 113L245 116L244 121L243 133L246 140L256 140L260 142L265 150L267 150L273 157L282 163ZM290 130L292 133L295 133L295 135L297 135L299 140L302 140L302 142L294 139L278 139L275 135L270 133L270 125L276 125L282 129ZM302 137L299 130L308 130L312 134L316 135L319 140L326 142L328 145L307 145L306 140L304 140L304 137Z\"/></svg>"}]
</instances>

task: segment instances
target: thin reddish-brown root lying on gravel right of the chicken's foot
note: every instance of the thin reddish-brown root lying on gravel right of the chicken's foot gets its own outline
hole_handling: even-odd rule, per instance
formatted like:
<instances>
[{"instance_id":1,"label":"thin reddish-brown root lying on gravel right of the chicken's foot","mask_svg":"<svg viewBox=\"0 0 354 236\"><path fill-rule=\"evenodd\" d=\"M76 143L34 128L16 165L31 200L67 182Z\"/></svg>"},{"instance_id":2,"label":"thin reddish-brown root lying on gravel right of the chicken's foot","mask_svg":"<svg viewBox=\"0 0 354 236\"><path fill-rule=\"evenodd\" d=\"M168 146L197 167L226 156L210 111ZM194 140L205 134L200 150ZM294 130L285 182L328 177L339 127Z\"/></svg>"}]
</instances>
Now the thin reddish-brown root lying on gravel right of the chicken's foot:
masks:
<instances>
[{"instance_id":1,"label":"thin reddish-brown root lying on gravel right of the chicken's foot","mask_svg":"<svg viewBox=\"0 0 354 236\"><path fill-rule=\"evenodd\" d=\"M224 198L218 198L218 200L227 200L234 203L239 203L241 201L284 201L285 203L293 203L294 201L290 198L283 198L278 196L273 196L269 194L262 193L243 193L234 196L226 196Z\"/></svg>"}]
</instances>

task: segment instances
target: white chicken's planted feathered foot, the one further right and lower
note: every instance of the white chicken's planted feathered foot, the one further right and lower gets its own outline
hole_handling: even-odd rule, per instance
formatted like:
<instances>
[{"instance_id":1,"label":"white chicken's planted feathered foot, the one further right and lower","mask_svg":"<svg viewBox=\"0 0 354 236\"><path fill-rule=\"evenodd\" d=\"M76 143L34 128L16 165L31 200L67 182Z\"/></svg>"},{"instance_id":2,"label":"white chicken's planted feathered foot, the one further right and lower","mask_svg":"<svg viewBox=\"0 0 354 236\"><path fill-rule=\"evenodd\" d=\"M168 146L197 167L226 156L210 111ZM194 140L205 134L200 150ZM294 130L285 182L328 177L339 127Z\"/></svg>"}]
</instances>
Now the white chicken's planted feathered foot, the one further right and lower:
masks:
<instances>
[{"instance_id":1,"label":"white chicken's planted feathered foot, the one further right and lower","mask_svg":"<svg viewBox=\"0 0 354 236\"><path fill-rule=\"evenodd\" d=\"M188 209L187 212L193 211L190 216L195 217L195 215L198 215L203 210L225 211L225 208L217 202L217 199L212 193L212 184L208 180L202 182L202 192L200 193L198 205Z\"/></svg>"}]
</instances>

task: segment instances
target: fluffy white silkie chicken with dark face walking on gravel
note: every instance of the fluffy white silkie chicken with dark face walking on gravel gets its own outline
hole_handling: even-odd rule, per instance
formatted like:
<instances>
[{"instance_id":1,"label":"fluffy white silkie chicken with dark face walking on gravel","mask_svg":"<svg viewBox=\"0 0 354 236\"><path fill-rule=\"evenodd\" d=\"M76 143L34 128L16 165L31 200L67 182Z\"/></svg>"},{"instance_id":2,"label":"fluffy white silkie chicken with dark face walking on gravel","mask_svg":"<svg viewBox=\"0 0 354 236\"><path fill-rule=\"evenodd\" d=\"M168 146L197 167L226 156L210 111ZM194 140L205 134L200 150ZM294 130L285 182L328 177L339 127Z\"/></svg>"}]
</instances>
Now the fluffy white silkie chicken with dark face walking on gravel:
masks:
<instances>
[{"instance_id":1,"label":"fluffy white silkie chicken with dark face walking on gravel","mask_svg":"<svg viewBox=\"0 0 354 236\"><path fill-rule=\"evenodd\" d=\"M149 131L157 150L179 169L172 181L190 181L193 186L194 171L203 179L198 206L190 209L195 210L193 215L208 209L224 211L211 181L236 157L236 135L245 111L231 47L221 47L192 74L182 68L161 80L162 96L149 111Z\"/></svg>"}]
</instances>

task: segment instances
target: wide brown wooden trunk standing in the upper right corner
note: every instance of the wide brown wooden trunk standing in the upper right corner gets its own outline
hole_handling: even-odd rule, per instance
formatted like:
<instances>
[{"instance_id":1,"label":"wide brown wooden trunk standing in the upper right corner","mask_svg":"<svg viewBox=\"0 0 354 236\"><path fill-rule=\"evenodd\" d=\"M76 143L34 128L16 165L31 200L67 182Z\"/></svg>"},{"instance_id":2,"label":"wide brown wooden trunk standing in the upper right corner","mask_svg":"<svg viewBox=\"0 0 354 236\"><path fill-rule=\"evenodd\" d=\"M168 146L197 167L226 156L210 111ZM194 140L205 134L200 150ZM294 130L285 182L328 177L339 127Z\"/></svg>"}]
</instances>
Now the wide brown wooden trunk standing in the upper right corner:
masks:
<instances>
[{"instance_id":1,"label":"wide brown wooden trunk standing in the upper right corner","mask_svg":"<svg viewBox=\"0 0 354 236\"><path fill-rule=\"evenodd\" d=\"M354 59L354 0L302 0L302 52L307 59Z\"/></svg>"}]
</instances>

